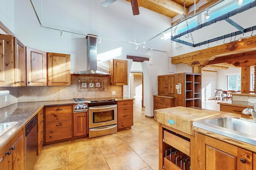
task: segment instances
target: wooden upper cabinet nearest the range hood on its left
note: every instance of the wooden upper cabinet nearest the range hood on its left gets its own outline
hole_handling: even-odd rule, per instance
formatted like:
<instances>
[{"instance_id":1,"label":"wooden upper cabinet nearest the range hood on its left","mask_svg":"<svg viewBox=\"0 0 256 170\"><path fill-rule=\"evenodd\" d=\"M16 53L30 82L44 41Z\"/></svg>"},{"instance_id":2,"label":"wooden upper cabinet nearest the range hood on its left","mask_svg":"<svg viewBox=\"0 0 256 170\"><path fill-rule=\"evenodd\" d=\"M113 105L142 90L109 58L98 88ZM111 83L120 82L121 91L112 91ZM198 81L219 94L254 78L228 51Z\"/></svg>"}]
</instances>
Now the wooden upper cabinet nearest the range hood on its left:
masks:
<instances>
[{"instance_id":1,"label":"wooden upper cabinet nearest the range hood on its left","mask_svg":"<svg viewBox=\"0 0 256 170\"><path fill-rule=\"evenodd\" d=\"M70 55L47 53L48 86L70 86Z\"/></svg>"}]
</instances>

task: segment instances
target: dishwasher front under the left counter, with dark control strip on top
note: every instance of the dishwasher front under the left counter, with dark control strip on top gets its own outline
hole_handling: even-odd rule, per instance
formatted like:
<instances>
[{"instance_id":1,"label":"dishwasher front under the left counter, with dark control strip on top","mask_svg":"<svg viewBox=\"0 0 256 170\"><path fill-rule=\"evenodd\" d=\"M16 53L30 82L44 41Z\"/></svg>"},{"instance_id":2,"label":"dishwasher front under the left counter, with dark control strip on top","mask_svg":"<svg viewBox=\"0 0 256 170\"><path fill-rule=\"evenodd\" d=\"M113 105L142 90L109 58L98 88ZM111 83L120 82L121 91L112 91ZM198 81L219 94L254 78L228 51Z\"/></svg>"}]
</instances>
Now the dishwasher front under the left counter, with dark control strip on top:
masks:
<instances>
[{"instance_id":1,"label":"dishwasher front under the left counter, with dark control strip on top","mask_svg":"<svg viewBox=\"0 0 256 170\"><path fill-rule=\"evenodd\" d=\"M37 115L26 124L26 170L33 170L36 162L37 124Z\"/></svg>"}]
</instances>

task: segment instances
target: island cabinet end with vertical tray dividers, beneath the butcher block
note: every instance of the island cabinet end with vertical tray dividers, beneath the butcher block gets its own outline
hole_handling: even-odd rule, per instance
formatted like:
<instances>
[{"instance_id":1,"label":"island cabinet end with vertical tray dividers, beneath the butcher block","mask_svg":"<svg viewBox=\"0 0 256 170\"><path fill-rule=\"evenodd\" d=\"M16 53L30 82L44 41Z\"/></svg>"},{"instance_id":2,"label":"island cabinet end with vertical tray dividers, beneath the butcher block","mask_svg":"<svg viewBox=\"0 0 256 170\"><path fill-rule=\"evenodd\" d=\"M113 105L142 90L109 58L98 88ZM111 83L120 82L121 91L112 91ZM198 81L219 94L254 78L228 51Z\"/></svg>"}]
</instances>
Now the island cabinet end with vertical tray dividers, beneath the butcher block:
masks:
<instances>
[{"instance_id":1,"label":"island cabinet end with vertical tray dividers, beneath the butcher block","mask_svg":"<svg viewBox=\"0 0 256 170\"><path fill-rule=\"evenodd\" d=\"M159 123L159 170L194 169L194 136Z\"/></svg>"}]
</instances>

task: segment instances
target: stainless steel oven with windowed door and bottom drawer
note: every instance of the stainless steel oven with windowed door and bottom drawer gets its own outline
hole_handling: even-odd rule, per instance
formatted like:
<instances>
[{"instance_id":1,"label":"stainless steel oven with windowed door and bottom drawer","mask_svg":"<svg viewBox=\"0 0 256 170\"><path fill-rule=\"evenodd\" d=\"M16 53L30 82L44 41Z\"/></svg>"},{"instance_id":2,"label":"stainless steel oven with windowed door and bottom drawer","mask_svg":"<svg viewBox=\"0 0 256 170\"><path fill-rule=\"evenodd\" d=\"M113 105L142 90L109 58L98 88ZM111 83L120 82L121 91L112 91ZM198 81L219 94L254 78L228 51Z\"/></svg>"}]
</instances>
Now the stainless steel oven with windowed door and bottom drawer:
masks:
<instances>
[{"instance_id":1,"label":"stainless steel oven with windowed door and bottom drawer","mask_svg":"<svg viewBox=\"0 0 256 170\"><path fill-rule=\"evenodd\" d=\"M94 100L89 105L89 138L117 132L117 100Z\"/></svg>"}]
</instances>

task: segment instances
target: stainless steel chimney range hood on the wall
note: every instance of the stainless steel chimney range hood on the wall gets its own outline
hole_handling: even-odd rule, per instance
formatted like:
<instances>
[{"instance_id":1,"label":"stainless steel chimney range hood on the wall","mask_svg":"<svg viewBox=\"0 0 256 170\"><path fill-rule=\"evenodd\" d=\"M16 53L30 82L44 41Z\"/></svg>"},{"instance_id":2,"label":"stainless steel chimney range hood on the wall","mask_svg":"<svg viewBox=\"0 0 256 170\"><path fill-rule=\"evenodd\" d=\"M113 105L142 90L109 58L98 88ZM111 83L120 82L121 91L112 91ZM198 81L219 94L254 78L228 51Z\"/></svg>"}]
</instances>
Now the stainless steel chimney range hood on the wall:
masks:
<instances>
[{"instance_id":1,"label":"stainless steel chimney range hood on the wall","mask_svg":"<svg viewBox=\"0 0 256 170\"><path fill-rule=\"evenodd\" d=\"M93 37L86 36L87 39L87 69L85 71L74 72L74 74L101 74L111 75L107 72L97 70L97 39L95 35Z\"/></svg>"}]
</instances>

